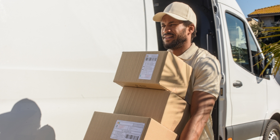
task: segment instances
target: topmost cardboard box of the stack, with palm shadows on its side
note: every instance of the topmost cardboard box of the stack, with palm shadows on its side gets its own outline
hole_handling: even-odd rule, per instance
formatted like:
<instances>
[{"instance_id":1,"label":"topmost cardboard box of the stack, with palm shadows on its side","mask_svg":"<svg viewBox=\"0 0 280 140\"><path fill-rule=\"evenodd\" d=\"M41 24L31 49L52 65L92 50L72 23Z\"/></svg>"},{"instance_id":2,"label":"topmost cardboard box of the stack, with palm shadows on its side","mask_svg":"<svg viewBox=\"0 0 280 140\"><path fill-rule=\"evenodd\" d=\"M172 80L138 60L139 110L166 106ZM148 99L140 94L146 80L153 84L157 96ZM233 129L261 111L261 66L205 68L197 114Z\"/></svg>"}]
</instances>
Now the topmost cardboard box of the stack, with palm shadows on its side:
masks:
<instances>
[{"instance_id":1,"label":"topmost cardboard box of the stack, with palm shadows on its side","mask_svg":"<svg viewBox=\"0 0 280 140\"><path fill-rule=\"evenodd\" d=\"M168 51L123 52L114 82L120 86L169 90L185 98L192 67Z\"/></svg>"}]
</instances>

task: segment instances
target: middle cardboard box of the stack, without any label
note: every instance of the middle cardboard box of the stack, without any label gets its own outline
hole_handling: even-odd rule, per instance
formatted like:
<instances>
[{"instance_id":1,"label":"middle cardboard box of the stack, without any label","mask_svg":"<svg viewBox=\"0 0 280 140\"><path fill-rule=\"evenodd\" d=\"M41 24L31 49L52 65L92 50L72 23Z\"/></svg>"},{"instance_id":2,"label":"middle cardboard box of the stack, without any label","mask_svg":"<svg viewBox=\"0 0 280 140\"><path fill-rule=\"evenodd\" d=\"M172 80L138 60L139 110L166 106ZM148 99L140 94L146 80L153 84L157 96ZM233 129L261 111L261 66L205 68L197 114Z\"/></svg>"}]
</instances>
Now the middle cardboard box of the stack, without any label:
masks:
<instances>
[{"instance_id":1,"label":"middle cardboard box of the stack, without any label","mask_svg":"<svg viewBox=\"0 0 280 140\"><path fill-rule=\"evenodd\" d=\"M171 91L124 86L114 114L150 117L180 135L190 118L190 105Z\"/></svg>"}]
</instances>

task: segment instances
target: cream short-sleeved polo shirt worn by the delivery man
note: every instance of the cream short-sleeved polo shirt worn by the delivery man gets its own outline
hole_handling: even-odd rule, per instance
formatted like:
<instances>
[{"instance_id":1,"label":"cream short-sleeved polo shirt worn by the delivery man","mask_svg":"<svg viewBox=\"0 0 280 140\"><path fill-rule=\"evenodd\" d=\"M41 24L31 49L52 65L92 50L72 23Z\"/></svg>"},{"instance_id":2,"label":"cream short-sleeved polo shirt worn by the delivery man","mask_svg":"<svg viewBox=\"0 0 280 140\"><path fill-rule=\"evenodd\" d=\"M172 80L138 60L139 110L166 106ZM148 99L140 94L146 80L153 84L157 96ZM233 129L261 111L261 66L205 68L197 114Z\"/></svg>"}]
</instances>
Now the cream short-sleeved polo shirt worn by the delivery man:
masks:
<instances>
[{"instance_id":1,"label":"cream short-sleeved polo shirt worn by the delivery man","mask_svg":"<svg viewBox=\"0 0 280 140\"><path fill-rule=\"evenodd\" d=\"M217 58L208 51L198 48L194 43L178 57L193 68L185 100L191 104L194 91L207 92L217 100L222 77ZM214 140L211 114L199 140Z\"/></svg>"}]
</instances>

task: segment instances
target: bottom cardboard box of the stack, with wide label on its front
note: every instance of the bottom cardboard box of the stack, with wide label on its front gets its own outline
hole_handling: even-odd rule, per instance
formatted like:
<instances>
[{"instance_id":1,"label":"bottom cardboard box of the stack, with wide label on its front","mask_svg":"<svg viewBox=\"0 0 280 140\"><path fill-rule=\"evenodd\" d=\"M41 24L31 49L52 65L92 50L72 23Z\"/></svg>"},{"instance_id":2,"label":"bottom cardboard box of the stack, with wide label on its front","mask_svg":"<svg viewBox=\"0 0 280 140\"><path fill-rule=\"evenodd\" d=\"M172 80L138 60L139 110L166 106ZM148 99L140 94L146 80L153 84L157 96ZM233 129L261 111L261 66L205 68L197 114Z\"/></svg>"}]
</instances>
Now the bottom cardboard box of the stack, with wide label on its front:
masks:
<instances>
[{"instance_id":1,"label":"bottom cardboard box of the stack, with wide label on its front","mask_svg":"<svg viewBox=\"0 0 280 140\"><path fill-rule=\"evenodd\" d=\"M147 117L94 112L84 140L179 140L179 136Z\"/></svg>"}]
</instances>

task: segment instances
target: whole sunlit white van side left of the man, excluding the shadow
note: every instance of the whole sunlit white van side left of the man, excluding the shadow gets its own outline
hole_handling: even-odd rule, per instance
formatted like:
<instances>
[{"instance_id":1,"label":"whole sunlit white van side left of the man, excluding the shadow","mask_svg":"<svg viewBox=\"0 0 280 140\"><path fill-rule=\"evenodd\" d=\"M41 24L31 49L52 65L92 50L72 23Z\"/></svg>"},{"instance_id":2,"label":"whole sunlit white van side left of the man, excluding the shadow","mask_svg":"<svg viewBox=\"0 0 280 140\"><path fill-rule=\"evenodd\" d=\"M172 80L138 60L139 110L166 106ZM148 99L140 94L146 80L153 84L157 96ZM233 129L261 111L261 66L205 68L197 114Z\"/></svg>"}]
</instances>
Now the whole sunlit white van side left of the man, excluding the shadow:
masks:
<instances>
[{"instance_id":1,"label":"whole sunlit white van side left of the man, excluding the shadow","mask_svg":"<svg viewBox=\"0 0 280 140\"><path fill-rule=\"evenodd\" d=\"M145 51L146 38L147 50L158 50L152 0L145 5L0 1L0 124L27 98L40 109L39 125L49 124L55 139L83 139L94 111L114 111L122 87L113 79L122 52Z\"/></svg>"}]
</instances>

